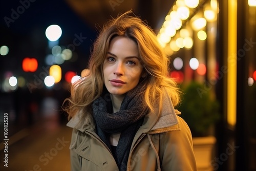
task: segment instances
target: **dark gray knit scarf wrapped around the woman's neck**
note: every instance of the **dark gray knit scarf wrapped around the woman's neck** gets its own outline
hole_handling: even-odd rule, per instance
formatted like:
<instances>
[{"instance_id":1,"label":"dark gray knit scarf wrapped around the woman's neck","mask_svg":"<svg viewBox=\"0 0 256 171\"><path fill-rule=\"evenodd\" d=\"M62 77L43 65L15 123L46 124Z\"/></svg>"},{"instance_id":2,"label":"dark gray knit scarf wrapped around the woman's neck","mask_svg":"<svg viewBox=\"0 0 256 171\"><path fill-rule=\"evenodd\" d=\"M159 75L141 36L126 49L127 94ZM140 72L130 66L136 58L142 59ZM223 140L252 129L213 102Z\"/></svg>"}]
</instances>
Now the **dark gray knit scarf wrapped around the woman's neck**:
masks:
<instances>
[{"instance_id":1,"label":"dark gray knit scarf wrapped around the woman's neck","mask_svg":"<svg viewBox=\"0 0 256 171\"><path fill-rule=\"evenodd\" d=\"M119 170L126 170L133 138L147 112L142 111L145 89L145 81L140 81L133 90L126 93L120 111L116 113L113 113L110 94L105 86L101 97L92 104L97 134L110 149L110 134L121 132L116 154L113 154Z\"/></svg>"}]
</instances>

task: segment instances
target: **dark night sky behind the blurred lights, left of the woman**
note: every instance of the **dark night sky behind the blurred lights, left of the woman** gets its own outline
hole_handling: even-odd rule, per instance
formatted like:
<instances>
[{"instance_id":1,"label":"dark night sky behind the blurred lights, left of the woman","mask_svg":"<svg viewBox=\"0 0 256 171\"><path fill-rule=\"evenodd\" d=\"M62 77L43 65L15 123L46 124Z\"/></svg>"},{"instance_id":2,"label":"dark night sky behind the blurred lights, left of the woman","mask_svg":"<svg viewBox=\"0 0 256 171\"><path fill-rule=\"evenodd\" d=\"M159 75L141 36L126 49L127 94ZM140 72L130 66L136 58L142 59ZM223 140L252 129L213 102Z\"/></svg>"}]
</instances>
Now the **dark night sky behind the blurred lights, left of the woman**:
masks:
<instances>
[{"instance_id":1,"label":"dark night sky behind the blurred lights, left of the woman","mask_svg":"<svg viewBox=\"0 0 256 171\"><path fill-rule=\"evenodd\" d=\"M62 29L59 46L70 48L74 53L73 59L61 65L62 71L71 70L80 74L81 70L87 67L90 48L97 31L90 28L65 1L1 0L0 11L0 46L9 47L9 53L0 56L1 79L7 71L17 76L31 75L22 70L22 60L25 57L34 57L38 60L37 72L40 72L42 67L47 67L45 57L51 51L48 48L45 30L52 24L59 25ZM82 37L82 42L79 46L73 46L77 37Z\"/></svg>"}]
</instances>

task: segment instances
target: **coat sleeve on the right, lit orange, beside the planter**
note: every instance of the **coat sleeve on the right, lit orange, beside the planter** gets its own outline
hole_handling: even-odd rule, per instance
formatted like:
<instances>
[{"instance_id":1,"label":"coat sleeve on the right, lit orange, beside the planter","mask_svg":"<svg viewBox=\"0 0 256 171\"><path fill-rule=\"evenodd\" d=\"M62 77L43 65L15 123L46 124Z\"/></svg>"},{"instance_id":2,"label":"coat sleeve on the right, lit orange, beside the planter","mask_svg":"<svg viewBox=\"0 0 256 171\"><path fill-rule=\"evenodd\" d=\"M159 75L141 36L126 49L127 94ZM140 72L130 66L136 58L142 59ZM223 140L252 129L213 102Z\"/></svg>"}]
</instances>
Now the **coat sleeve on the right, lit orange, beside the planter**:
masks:
<instances>
[{"instance_id":1,"label":"coat sleeve on the right, lit orange, beside the planter","mask_svg":"<svg viewBox=\"0 0 256 171\"><path fill-rule=\"evenodd\" d=\"M162 170L197 170L193 141L187 123L177 116L180 130L163 135Z\"/></svg>"}]
</instances>

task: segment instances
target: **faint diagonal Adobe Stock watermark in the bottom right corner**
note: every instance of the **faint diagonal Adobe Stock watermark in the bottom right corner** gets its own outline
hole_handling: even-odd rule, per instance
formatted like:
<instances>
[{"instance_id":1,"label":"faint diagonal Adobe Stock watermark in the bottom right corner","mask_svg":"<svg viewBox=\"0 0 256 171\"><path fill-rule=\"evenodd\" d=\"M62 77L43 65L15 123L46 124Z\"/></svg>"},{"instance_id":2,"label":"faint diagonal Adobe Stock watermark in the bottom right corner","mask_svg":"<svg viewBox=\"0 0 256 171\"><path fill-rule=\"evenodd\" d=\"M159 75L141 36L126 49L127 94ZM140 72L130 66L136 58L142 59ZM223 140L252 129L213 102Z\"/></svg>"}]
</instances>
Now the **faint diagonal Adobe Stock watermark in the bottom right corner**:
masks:
<instances>
[{"instance_id":1,"label":"faint diagonal Adobe Stock watermark in the bottom right corner","mask_svg":"<svg viewBox=\"0 0 256 171\"><path fill-rule=\"evenodd\" d=\"M217 170L219 166L228 159L228 156L233 155L234 152L236 152L239 148L239 146L234 145L234 142L232 143L232 145L227 143L227 146L228 147L226 148L226 151L224 153L220 154L219 157L215 157L210 161L209 164L214 168L214 170Z\"/></svg>"}]
</instances>

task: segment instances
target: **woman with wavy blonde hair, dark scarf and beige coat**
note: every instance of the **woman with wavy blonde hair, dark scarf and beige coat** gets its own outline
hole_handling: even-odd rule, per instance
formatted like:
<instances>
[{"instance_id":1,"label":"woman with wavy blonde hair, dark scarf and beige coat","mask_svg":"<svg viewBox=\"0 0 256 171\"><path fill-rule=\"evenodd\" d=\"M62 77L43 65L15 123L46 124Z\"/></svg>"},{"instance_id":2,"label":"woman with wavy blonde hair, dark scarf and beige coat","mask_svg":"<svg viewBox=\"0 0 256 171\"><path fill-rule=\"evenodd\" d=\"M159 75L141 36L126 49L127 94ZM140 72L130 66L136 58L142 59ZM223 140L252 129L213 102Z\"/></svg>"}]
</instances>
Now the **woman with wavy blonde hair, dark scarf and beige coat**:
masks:
<instances>
[{"instance_id":1,"label":"woman with wavy blonde hair, dark scarf and beige coat","mask_svg":"<svg viewBox=\"0 0 256 171\"><path fill-rule=\"evenodd\" d=\"M154 32L128 11L96 39L67 112L72 170L196 170L179 89Z\"/></svg>"}]
</instances>

